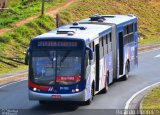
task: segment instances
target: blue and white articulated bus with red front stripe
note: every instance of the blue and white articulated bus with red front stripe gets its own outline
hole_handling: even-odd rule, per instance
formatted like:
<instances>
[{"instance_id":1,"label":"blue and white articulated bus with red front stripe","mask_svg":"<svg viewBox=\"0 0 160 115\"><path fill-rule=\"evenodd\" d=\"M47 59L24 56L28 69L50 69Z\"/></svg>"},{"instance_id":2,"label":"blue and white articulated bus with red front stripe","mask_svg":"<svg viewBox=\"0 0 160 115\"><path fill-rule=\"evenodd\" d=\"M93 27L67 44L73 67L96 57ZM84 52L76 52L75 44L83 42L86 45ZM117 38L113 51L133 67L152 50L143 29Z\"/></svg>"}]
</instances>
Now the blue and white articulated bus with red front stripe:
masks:
<instances>
[{"instance_id":1,"label":"blue and white articulated bus with red front stripe","mask_svg":"<svg viewBox=\"0 0 160 115\"><path fill-rule=\"evenodd\" d=\"M93 15L30 41L29 99L90 104L138 65L137 18Z\"/></svg>"}]
</instances>

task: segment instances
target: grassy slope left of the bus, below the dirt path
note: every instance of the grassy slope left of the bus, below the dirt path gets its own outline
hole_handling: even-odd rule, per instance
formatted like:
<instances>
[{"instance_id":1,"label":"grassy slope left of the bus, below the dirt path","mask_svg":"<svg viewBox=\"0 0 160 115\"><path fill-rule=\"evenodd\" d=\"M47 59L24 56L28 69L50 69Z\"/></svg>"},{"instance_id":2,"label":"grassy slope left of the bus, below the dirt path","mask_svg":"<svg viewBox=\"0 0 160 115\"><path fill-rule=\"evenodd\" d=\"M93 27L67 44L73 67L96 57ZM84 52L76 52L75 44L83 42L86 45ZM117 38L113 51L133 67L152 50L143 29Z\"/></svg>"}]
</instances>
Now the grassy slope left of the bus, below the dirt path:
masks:
<instances>
[{"instance_id":1,"label":"grassy slope left of the bus, below the dirt path","mask_svg":"<svg viewBox=\"0 0 160 115\"><path fill-rule=\"evenodd\" d=\"M55 28L55 20L40 16L0 37L0 74L24 69L24 57L30 39Z\"/></svg>"}]
</instances>

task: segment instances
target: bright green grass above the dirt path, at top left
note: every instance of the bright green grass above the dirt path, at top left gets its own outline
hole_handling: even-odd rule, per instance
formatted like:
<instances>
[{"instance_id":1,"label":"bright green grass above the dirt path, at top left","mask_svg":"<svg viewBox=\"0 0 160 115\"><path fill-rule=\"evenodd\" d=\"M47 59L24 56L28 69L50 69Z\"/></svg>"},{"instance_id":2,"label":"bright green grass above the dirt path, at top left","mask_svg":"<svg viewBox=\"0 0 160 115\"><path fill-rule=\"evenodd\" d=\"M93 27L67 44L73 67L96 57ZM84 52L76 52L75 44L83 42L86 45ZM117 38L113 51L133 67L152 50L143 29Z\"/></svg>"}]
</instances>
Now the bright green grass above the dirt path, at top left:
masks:
<instances>
[{"instance_id":1,"label":"bright green grass above the dirt path, at top left","mask_svg":"<svg viewBox=\"0 0 160 115\"><path fill-rule=\"evenodd\" d=\"M57 7L68 0L45 0L45 10ZM18 20L41 13L42 0L9 0L9 10L0 12L0 28L10 28Z\"/></svg>"}]
</instances>

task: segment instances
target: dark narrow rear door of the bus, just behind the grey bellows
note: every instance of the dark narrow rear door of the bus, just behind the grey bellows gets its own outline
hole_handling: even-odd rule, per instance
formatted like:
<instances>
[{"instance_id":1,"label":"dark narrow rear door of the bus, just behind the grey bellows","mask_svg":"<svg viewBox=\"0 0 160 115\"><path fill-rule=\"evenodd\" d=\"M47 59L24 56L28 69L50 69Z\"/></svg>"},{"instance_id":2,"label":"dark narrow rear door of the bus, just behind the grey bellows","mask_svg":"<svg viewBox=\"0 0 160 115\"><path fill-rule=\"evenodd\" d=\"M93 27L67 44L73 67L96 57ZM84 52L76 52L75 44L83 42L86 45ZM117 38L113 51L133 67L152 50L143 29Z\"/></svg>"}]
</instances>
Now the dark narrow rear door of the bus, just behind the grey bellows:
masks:
<instances>
[{"instance_id":1,"label":"dark narrow rear door of the bus, just behind the grey bellows","mask_svg":"<svg viewBox=\"0 0 160 115\"><path fill-rule=\"evenodd\" d=\"M123 61L124 61L124 50L123 50L123 33L119 33L119 75L123 74Z\"/></svg>"}]
</instances>

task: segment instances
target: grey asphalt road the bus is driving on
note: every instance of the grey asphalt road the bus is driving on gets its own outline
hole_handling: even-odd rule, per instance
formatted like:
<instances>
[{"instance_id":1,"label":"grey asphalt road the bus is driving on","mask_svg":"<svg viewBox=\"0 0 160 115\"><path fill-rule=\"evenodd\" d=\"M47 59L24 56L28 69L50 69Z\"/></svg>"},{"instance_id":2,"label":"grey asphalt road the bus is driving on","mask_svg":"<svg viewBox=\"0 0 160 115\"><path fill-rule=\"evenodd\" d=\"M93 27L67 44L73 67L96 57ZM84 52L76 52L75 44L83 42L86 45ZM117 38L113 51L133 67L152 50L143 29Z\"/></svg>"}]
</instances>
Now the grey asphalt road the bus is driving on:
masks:
<instances>
[{"instance_id":1,"label":"grey asphalt road the bus is driving on","mask_svg":"<svg viewBox=\"0 0 160 115\"><path fill-rule=\"evenodd\" d=\"M139 54L139 67L127 81L117 81L109 86L107 94L96 95L91 105L76 105L74 103L53 103L45 106L37 101L28 100L27 81L22 81L6 87L0 86L0 109L14 109L18 115L56 114L56 115L111 115L118 114L117 109L124 109L127 100L137 91L160 81L160 50ZM38 112L38 113L37 113ZM119 113L120 114L120 113Z\"/></svg>"}]
</instances>

